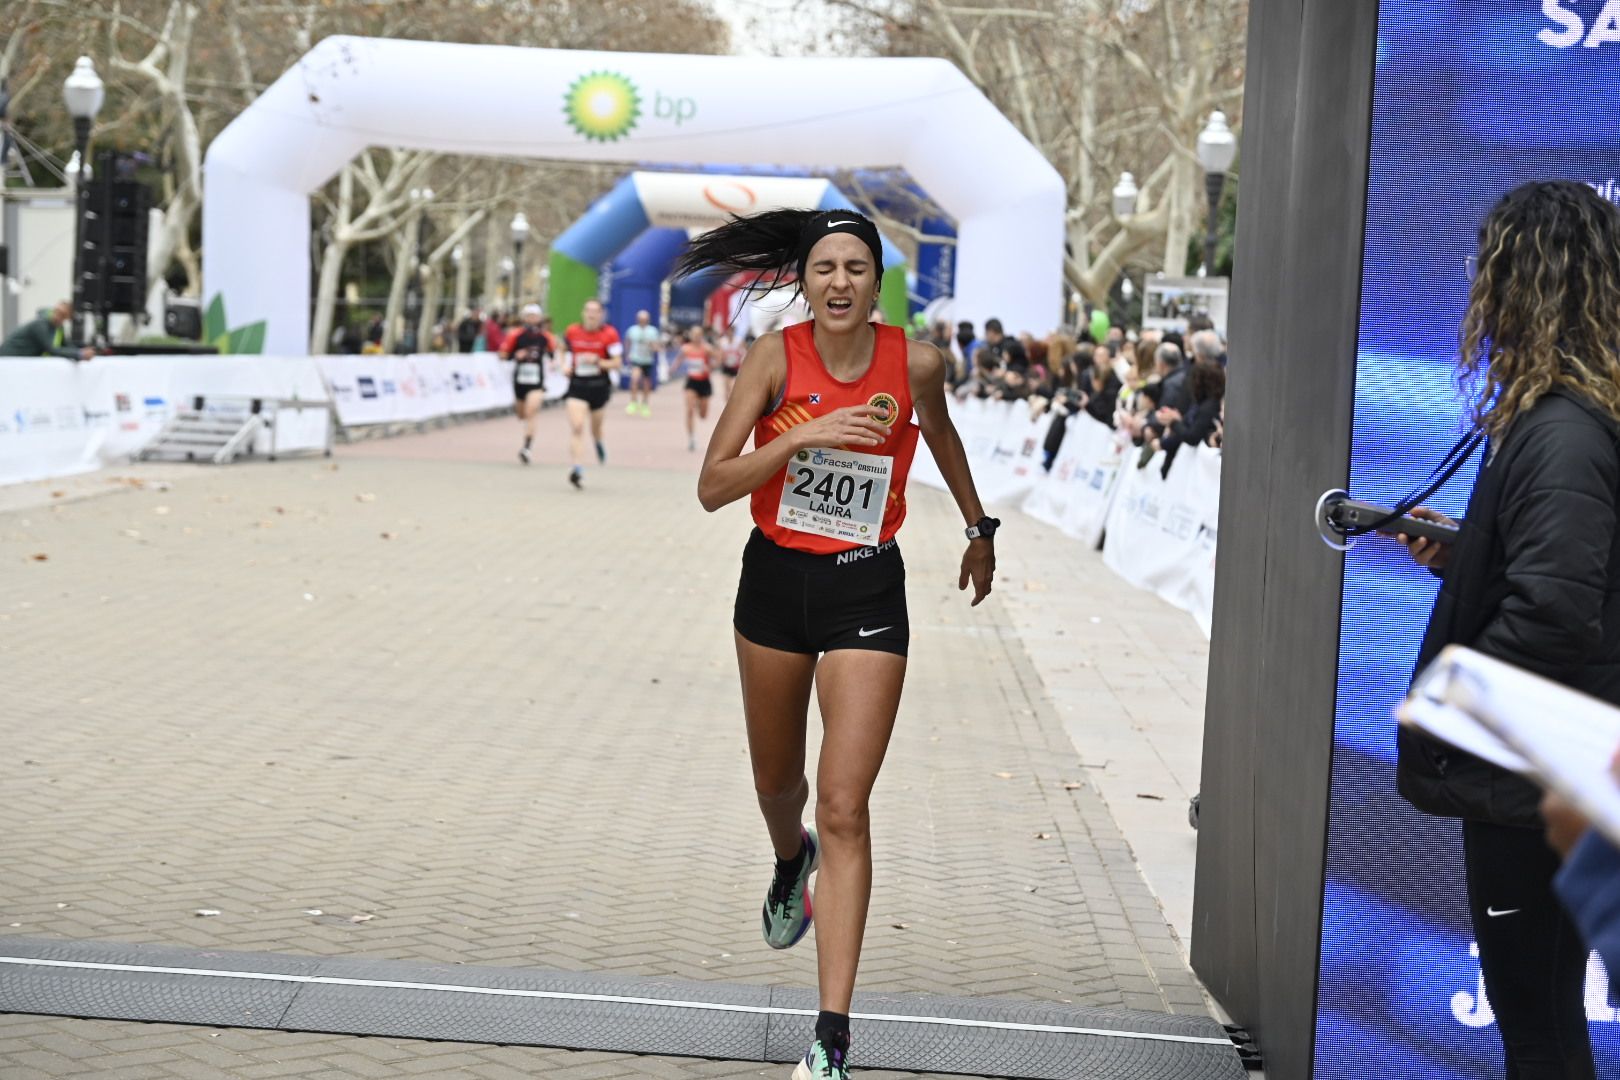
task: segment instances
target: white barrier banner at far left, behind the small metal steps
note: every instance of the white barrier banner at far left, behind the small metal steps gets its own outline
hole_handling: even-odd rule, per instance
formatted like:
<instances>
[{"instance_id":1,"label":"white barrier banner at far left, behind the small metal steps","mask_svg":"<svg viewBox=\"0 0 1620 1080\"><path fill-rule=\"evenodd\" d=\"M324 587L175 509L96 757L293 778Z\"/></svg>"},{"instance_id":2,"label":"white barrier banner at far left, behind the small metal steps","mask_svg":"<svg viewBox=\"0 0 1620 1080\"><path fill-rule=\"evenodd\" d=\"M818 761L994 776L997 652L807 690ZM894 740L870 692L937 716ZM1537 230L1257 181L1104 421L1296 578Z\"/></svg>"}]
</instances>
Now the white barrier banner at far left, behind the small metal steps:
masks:
<instances>
[{"instance_id":1,"label":"white barrier banner at far left, behind the small metal steps","mask_svg":"<svg viewBox=\"0 0 1620 1080\"><path fill-rule=\"evenodd\" d=\"M126 461L194 398L326 402L309 356L99 356L0 361L0 484ZM280 410L277 450L326 445L324 410ZM269 432L254 450L267 453Z\"/></svg>"}]
</instances>

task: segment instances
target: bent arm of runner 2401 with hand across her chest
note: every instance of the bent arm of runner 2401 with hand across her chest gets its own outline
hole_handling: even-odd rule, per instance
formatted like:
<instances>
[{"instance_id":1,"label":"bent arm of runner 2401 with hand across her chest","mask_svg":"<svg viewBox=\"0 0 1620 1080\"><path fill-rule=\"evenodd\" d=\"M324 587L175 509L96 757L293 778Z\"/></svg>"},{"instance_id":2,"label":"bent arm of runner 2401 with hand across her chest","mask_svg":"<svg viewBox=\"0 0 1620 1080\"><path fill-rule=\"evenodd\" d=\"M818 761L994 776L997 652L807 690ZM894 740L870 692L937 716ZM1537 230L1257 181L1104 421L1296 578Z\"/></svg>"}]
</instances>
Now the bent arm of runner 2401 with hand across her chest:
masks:
<instances>
[{"instance_id":1,"label":"bent arm of runner 2401 with hand across her chest","mask_svg":"<svg viewBox=\"0 0 1620 1080\"><path fill-rule=\"evenodd\" d=\"M698 502L711 513L752 495L787 465L787 458L805 447L875 447L888 436L888 427L873 419L878 410L857 405L789 427L786 434L744 453L755 421L765 416L787 379L782 335L766 334L748 350L748 358L753 363L744 363L737 374L737 384L714 423L703 471L698 473Z\"/></svg>"}]
</instances>

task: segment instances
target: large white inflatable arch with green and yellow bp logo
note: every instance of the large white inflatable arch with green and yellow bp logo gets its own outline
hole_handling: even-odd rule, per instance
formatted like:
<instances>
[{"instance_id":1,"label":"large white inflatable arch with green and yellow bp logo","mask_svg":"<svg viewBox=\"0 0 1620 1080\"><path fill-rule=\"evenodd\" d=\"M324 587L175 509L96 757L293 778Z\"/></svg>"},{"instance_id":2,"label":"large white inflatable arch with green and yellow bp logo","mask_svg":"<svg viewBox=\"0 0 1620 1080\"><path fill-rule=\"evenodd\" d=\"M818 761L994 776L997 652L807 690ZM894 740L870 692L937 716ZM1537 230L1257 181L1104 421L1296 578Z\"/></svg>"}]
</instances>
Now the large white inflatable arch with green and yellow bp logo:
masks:
<instances>
[{"instance_id":1,"label":"large white inflatable arch with green and yellow bp logo","mask_svg":"<svg viewBox=\"0 0 1620 1080\"><path fill-rule=\"evenodd\" d=\"M956 317L1061 314L1063 180L951 63L327 37L209 146L204 295L309 343L309 194L369 146L535 159L904 167L957 222Z\"/></svg>"}]
</instances>

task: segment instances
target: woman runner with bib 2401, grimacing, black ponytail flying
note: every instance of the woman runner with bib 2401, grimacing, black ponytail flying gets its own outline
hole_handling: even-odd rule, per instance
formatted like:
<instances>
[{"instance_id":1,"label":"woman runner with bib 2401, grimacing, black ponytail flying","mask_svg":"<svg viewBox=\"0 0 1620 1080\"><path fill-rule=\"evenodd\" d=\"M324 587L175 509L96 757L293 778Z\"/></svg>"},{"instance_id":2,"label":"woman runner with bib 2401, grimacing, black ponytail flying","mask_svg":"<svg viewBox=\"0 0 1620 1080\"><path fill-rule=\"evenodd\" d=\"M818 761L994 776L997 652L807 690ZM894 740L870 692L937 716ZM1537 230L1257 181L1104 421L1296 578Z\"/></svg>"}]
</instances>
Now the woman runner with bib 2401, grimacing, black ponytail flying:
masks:
<instances>
[{"instance_id":1,"label":"woman runner with bib 2401, grimacing, black ponytail flying","mask_svg":"<svg viewBox=\"0 0 1620 1080\"><path fill-rule=\"evenodd\" d=\"M698 479L718 510L748 497L757 528L742 554L734 617L753 785L776 850L765 941L787 949L810 928L815 889L821 1012L794 1080L849 1077L849 1002L872 895L868 797L906 680L906 563L894 534L919 427L967 529L959 588L990 593L991 536L944 406L944 359L901 327L873 325L883 241L850 210L770 210L697 238L679 272L797 275L813 321L748 350ZM915 410L917 423L910 423ZM755 449L744 453L753 436ZM825 725L815 826L805 724L812 685Z\"/></svg>"}]
</instances>

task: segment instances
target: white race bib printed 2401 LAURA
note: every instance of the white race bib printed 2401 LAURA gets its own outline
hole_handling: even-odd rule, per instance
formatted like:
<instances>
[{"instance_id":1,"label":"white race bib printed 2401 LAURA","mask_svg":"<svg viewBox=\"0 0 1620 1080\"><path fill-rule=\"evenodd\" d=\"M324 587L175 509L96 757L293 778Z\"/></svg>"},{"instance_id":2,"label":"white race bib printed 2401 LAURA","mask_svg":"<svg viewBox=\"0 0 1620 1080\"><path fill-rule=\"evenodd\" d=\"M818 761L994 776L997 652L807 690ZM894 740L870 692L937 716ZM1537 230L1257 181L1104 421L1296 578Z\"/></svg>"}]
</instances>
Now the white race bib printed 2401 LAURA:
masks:
<instances>
[{"instance_id":1,"label":"white race bib printed 2401 LAURA","mask_svg":"<svg viewBox=\"0 0 1620 1080\"><path fill-rule=\"evenodd\" d=\"M894 458L852 450L800 450L787 461L776 523L797 533L876 547Z\"/></svg>"}]
</instances>

